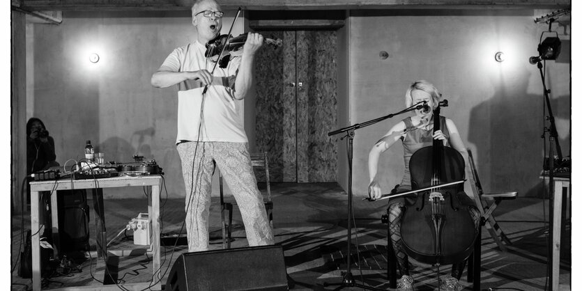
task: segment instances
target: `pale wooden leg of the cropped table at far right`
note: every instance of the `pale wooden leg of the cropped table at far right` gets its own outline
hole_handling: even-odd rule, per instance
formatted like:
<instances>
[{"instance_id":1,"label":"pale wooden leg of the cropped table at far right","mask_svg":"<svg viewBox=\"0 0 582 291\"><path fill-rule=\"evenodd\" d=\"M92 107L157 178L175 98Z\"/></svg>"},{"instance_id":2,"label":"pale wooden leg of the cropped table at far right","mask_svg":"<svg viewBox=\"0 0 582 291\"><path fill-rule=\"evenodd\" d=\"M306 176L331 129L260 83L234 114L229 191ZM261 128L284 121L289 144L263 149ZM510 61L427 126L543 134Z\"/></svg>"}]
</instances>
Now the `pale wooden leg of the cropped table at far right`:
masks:
<instances>
[{"instance_id":1,"label":"pale wooden leg of the cropped table at far right","mask_svg":"<svg viewBox=\"0 0 582 291\"><path fill-rule=\"evenodd\" d=\"M560 283L560 235L562 229L562 181L554 180L553 221L552 221L552 260L551 290L558 290Z\"/></svg>"}]
</instances>

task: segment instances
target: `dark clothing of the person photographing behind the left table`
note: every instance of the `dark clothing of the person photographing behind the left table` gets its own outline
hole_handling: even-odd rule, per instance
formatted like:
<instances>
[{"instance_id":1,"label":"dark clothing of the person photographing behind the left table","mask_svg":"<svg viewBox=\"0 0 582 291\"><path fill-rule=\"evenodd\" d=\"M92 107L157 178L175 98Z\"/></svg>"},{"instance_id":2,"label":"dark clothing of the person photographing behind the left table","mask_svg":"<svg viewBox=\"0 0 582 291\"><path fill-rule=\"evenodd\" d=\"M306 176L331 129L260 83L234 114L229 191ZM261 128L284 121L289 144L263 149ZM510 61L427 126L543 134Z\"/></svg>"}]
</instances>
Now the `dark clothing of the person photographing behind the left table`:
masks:
<instances>
[{"instance_id":1,"label":"dark clothing of the person photographing behind the left table","mask_svg":"<svg viewBox=\"0 0 582 291\"><path fill-rule=\"evenodd\" d=\"M43 143L40 139L32 140L26 138L26 173L34 173L46 170L54 164L56 155L54 154L54 139L47 137L48 141ZM52 163L51 163L52 162Z\"/></svg>"}]
</instances>

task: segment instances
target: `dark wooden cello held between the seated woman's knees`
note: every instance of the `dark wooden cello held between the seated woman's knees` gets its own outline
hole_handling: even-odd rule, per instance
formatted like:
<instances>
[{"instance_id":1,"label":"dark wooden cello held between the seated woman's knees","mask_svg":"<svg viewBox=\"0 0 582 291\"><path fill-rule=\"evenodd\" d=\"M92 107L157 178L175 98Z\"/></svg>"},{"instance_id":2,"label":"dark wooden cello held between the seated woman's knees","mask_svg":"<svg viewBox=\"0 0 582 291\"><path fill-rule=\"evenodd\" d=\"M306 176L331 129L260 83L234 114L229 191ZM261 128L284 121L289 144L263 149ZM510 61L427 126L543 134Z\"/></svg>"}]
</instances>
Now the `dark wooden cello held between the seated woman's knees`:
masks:
<instances>
[{"instance_id":1,"label":"dark wooden cello held between the seated woman's knees","mask_svg":"<svg viewBox=\"0 0 582 291\"><path fill-rule=\"evenodd\" d=\"M434 109L433 132L441 129L441 107L446 106L447 100L443 100ZM454 148L444 146L440 139L434 139L432 146L417 150L410 159L409 168L413 190L465 178L463 156ZM462 191L462 183L421 191L414 203L405 205L400 231L408 256L436 266L468 258L477 231L470 206L459 200L459 195L464 195L460 194Z\"/></svg>"}]
</instances>

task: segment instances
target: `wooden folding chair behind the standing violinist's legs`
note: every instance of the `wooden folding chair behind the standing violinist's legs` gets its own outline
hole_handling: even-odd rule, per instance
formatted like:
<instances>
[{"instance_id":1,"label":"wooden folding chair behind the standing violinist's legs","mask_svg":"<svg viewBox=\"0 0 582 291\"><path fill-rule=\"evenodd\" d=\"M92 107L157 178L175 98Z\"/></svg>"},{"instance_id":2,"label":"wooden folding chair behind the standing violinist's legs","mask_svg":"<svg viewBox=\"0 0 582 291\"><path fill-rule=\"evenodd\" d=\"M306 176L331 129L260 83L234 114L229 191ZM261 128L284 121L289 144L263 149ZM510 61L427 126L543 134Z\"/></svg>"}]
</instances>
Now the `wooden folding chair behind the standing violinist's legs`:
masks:
<instances>
[{"instance_id":1,"label":"wooden folding chair behind the standing violinist's legs","mask_svg":"<svg viewBox=\"0 0 582 291\"><path fill-rule=\"evenodd\" d=\"M273 200L271 200L271 189L269 182L269 162L267 159L267 153L251 153L251 165L253 167L264 167L265 168L265 182L267 184L267 197L265 201L265 208L267 210L267 217L269 219L270 227L273 228ZM222 217L222 249L230 249L231 247L231 234L232 234L232 212L233 205L236 205L236 201L225 201L224 191L222 187L222 173L218 171L218 182L220 184L220 216ZM225 213L229 212L229 221L226 223Z\"/></svg>"}]
</instances>

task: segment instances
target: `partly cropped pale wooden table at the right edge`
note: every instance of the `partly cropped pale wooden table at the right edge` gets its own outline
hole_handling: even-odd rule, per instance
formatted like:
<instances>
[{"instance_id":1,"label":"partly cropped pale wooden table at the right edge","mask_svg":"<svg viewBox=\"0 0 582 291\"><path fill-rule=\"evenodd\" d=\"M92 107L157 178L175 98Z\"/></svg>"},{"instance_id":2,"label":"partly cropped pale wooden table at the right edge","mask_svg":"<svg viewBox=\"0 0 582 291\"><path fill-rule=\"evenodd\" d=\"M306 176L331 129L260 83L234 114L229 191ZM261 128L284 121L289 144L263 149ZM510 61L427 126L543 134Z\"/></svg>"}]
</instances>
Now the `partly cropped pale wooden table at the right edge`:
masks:
<instances>
[{"instance_id":1,"label":"partly cropped pale wooden table at the right edge","mask_svg":"<svg viewBox=\"0 0 582 291\"><path fill-rule=\"evenodd\" d=\"M539 177L544 179L544 182L549 182L549 176L542 175ZM551 187L551 185L549 185ZM551 190L551 189L550 189ZM554 177L553 178L553 197L551 197L550 217L551 223L551 273L550 273L550 290L558 290L560 283L560 241L562 235L562 217L569 219L570 217L570 200L571 200L570 178L569 177ZM563 197L565 196L565 198ZM562 211L562 205L565 210Z\"/></svg>"}]
</instances>

